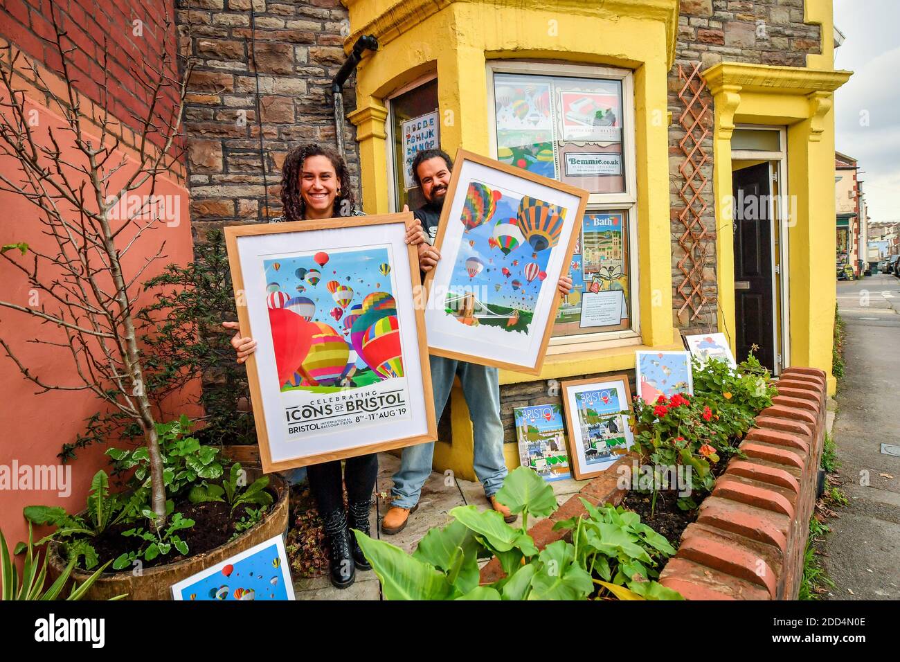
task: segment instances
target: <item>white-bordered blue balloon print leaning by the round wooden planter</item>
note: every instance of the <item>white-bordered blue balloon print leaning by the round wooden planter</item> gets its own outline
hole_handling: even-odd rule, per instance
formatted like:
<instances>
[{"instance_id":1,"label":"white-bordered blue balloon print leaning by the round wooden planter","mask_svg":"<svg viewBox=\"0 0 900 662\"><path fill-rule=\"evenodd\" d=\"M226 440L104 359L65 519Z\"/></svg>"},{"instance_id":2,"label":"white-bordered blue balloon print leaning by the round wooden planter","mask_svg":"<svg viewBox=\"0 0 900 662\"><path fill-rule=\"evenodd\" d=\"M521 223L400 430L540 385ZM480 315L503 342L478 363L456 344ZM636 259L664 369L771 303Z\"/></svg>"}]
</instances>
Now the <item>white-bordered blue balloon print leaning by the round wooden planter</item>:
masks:
<instances>
[{"instance_id":1,"label":"white-bordered blue balloon print leaning by the round wooden planter","mask_svg":"<svg viewBox=\"0 0 900 662\"><path fill-rule=\"evenodd\" d=\"M284 540L275 536L172 585L175 600L293 600Z\"/></svg>"}]
</instances>

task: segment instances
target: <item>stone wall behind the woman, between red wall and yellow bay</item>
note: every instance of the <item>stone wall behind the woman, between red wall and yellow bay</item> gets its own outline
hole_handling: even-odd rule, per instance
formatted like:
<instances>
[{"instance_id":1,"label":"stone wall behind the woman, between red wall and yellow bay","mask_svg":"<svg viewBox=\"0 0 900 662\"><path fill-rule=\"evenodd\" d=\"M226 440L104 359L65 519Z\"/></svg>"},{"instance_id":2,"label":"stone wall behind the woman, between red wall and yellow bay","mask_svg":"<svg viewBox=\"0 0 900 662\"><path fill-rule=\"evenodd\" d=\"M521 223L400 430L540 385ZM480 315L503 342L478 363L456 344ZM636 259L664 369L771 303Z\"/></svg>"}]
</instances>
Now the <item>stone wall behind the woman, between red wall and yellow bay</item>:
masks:
<instances>
[{"instance_id":1,"label":"stone wall behind the woman, between red wall and yellow bay","mask_svg":"<svg viewBox=\"0 0 900 662\"><path fill-rule=\"evenodd\" d=\"M182 59L195 62L184 126L202 237L221 222L278 215L287 153L303 142L335 147L330 85L345 60L347 10L339 0L178 0L177 8ZM346 112L356 108L354 90L351 77ZM356 127L345 122L344 131L358 199Z\"/></svg>"}]
</instances>

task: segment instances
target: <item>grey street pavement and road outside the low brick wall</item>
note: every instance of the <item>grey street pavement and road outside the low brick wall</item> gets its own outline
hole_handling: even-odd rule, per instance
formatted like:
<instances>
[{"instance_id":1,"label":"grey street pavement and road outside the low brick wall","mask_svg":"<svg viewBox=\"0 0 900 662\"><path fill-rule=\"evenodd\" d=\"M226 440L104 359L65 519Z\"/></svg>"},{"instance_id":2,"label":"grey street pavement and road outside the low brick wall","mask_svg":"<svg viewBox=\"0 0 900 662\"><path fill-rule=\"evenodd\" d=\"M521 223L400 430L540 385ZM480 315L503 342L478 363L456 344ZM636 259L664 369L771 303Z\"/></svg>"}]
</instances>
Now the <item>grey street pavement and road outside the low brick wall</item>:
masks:
<instances>
[{"instance_id":1,"label":"grey street pavement and road outside the low brick wall","mask_svg":"<svg viewBox=\"0 0 900 662\"><path fill-rule=\"evenodd\" d=\"M838 600L900 599L900 279L839 281L845 375L833 426L849 505L828 521L824 569Z\"/></svg>"}]
</instances>

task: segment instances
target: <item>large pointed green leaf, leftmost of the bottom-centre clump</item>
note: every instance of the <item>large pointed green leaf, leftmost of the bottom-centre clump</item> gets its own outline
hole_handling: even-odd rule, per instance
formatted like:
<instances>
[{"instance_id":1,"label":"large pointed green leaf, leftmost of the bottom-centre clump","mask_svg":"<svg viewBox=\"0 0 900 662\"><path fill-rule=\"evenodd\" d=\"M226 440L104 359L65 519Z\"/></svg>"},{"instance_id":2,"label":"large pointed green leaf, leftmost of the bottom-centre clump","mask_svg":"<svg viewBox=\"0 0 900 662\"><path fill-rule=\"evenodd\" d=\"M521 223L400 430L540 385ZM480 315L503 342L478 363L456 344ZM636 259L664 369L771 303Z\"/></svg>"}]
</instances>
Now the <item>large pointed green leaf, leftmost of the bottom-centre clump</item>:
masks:
<instances>
[{"instance_id":1,"label":"large pointed green leaf, leftmost of the bottom-centre clump","mask_svg":"<svg viewBox=\"0 0 900 662\"><path fill-rule=\"evenodd\" d=\"M448 600L454 590L430 563L412 558L398 547L354 530L365 558L382 583L386 600Z\"/></svg>"}]
</instances>

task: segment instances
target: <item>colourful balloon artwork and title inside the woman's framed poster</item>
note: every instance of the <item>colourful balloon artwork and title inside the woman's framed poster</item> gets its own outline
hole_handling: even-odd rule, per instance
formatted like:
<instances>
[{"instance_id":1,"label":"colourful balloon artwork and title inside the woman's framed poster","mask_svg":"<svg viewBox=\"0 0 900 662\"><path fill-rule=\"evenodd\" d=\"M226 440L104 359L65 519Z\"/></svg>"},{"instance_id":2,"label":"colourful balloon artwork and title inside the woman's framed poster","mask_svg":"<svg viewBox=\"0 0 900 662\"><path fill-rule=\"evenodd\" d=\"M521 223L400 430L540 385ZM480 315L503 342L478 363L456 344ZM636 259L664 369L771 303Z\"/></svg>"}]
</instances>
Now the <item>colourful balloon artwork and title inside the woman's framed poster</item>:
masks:
<instances>
[{"instance_id":1,"label":"colourful balloon artwork and title inside the woman's framed poster","mask_svg":"<svg viewBox=\"0 0 900 662\"><path fill-rule=\"evenodd\" d=\"M388 398L391 402L384 399L382 389L376 388L404 376L387 249L311 252L266 259L263 265L275 365L283 394L353 390L354 397L373 397L378 409L405 405L406 399L397 394L396 387L389 389L395 394ZM364 387L369 387L365 394L358 390ZM297 402L293 421L309 422L320 413L321 418L329 419L327 427L358 423L356 417L343 422L335 418L336 413L354 410L351 399L341 399L340 406L307 407L317 402ZM371 409L360 406L362 410Z\"/></svg>"}]
</instances>

